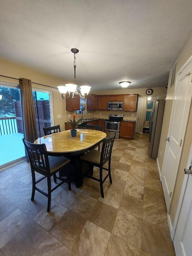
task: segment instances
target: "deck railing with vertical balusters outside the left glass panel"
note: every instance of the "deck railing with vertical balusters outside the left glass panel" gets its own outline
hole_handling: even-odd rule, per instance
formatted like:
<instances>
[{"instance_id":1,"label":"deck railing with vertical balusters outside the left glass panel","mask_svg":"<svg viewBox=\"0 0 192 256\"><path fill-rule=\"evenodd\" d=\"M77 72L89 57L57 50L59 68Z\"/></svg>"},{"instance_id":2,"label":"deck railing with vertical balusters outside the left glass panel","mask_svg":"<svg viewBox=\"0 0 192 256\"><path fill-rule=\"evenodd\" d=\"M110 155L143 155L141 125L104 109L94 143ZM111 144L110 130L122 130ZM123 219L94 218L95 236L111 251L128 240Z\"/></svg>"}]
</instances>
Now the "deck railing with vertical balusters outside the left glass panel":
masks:
<instances>
[{"instance_id":1,"label":"deck railing with vertical balusters outside the left glass panel","mask_svg":"<svg viewBox=\"0 0 192 256\"><path fill-rule=\"evenodd\" d=\"M0 135L17 133L15 117L0 117Z\"/></svg>"}]
</instances>

